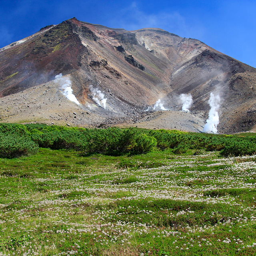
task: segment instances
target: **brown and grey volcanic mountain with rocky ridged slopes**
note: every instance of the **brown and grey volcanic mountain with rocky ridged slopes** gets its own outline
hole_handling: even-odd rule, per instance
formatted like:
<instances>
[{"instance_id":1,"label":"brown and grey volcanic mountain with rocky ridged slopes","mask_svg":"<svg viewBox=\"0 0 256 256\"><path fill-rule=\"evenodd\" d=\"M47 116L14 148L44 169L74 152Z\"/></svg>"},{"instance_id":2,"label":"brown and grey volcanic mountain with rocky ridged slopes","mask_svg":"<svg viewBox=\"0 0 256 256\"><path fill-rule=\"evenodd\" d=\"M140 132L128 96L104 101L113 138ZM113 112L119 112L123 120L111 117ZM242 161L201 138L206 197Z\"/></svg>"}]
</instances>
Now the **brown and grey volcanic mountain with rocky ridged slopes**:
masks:
<instances>
[{"instance_id":1,"label":"brown and grey volcanic mountain with rocky ridged slopes","mask_svg":"<svg viewBox=\"0 0 256 256\"><path fill-rule=\"evenodd\" d=\"M202 131L215 92L220 133L256 124L256 69L160 28L72 18L0 49L0 63L0 122Z\"/></svg>"}]
</instances>

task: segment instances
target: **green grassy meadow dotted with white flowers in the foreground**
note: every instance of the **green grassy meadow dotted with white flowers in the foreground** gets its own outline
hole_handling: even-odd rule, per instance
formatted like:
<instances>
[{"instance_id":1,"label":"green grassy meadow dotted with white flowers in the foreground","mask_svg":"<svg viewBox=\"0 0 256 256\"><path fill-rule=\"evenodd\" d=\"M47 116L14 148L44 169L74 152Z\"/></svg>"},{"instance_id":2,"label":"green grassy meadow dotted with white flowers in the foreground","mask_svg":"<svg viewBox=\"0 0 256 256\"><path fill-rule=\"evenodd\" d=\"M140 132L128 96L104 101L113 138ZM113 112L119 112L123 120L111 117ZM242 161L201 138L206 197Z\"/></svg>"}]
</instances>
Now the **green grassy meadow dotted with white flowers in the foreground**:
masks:
<instances>
[{"instance_id":1,"label":"green grassy meadow dotted with white flowers in the foreground","mask_svg":"<svg viewBox=\"0 0 256 256\"><path fill-rule=\"evenodd\" d=\"M0 159L0 255L256 255L256 156Z\"/></svg>"}]
</instances>

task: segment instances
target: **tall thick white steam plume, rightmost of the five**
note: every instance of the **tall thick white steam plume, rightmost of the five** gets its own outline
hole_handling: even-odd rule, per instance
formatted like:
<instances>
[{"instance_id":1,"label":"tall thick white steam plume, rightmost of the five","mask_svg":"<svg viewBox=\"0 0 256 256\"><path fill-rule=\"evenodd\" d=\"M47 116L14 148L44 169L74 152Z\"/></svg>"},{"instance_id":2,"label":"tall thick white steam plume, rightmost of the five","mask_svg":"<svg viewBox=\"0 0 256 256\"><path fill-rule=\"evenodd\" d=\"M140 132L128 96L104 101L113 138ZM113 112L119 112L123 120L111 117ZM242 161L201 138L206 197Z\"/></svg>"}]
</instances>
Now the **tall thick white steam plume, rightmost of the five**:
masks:
<instances>
[{"instance_id":1,"label":"tall thick white steam plume, rightmost of the five","mask_svg":"<svg viewBox=\"0 0 256 256\"><path fill-rule=\"evenodd\" d=\"M219 94L214 94L211 92L210 99L208 103L210 105L209 117L206 120L206 124L204 126L203 132L206 133L218 133L217 126L219 124L219 114L218 110L220 108L220 96Z\"/></svg>"}]
</instances>

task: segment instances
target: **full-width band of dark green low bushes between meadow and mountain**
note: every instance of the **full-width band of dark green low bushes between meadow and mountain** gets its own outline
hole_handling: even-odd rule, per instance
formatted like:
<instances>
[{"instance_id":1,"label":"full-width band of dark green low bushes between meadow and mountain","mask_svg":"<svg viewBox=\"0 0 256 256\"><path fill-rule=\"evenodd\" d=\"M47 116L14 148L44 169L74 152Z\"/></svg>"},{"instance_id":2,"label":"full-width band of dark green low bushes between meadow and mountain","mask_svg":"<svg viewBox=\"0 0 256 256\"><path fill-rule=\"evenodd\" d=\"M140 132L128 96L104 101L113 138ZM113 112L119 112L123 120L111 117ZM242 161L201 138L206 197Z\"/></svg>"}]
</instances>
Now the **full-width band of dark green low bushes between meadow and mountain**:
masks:
<instances>
[{"instance_id":1,"label":"full-width band of dark green low bushes between meadow and mountain","mask_svg":"<svg viewBox=\"0 0 256 256\"><path fill-rule=\"evenodd\" d=\"M220 151L223 156L256 153L255 136L226 136L187 133L176 130L136 128L86 129L64 126L0 124L0 157L13 158L38 151L38 148L75 149L84 154L142 154L170 149L182 154L189 149Z\"/></svg>"}]
</instances>

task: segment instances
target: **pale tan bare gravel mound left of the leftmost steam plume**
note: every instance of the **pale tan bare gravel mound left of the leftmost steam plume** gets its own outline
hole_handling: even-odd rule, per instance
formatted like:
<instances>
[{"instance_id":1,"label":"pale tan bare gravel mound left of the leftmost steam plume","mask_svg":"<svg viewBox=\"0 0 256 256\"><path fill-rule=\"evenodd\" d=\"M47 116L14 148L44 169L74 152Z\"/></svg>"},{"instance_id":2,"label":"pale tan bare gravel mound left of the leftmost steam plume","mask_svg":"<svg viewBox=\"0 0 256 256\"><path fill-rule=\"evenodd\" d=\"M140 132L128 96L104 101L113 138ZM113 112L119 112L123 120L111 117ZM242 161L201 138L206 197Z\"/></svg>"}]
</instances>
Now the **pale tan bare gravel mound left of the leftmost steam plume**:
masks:
<instances>
[{"instance_id":1,"label":"pale tan bare gravel mound left of the leftmost steam plume","mask_svg":"<svg viewBox=\"0 0 256 256\"><path fill-rule=\"evenodd\" d=\"M0 122L91 126L104 120L68 100L53 81L0 99Z\"/></svg>"}]
</instances>

